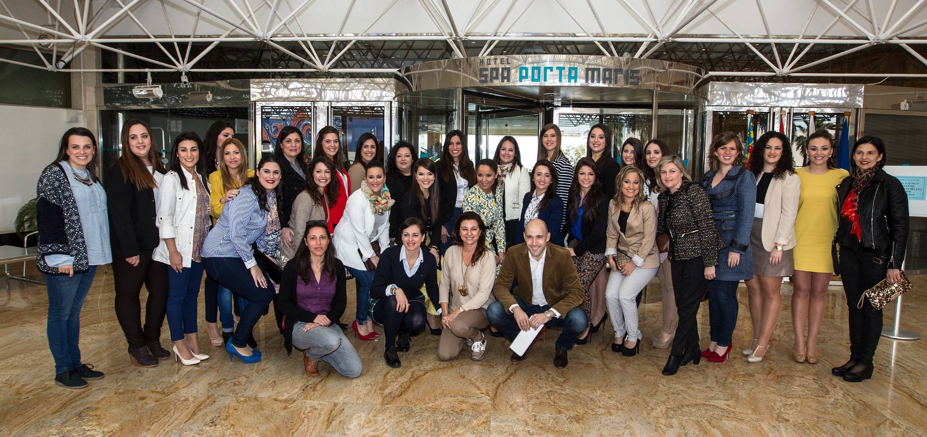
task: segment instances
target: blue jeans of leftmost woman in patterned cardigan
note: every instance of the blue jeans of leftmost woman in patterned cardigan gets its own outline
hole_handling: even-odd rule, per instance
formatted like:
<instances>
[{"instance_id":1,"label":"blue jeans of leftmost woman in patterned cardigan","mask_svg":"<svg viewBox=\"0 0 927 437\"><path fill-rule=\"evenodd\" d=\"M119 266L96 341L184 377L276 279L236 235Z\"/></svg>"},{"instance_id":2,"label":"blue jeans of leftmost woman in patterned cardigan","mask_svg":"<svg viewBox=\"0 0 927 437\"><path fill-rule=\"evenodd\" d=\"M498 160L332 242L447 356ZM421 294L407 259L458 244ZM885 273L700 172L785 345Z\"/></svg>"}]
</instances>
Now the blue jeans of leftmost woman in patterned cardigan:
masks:
<instances>
[{"instance_id":1,"label":"blue jeans of leftmost woman in patterned cardigan","mask_svg":"<svg viewBox=\"0 0 927 437\"><path fill-rule=\"evenodd\" d=\"M87 273L45 275L48 289L48 348L55 358L55 373L81 366L81 307L94 282L96 266Z\"/></svg>"}]
</instances>

